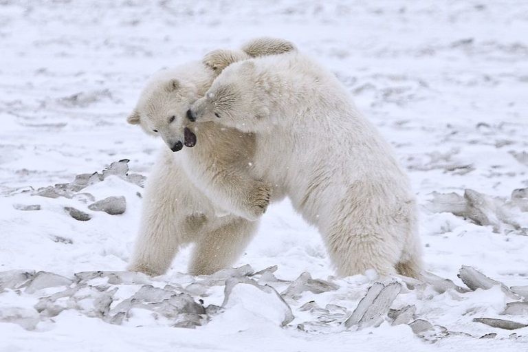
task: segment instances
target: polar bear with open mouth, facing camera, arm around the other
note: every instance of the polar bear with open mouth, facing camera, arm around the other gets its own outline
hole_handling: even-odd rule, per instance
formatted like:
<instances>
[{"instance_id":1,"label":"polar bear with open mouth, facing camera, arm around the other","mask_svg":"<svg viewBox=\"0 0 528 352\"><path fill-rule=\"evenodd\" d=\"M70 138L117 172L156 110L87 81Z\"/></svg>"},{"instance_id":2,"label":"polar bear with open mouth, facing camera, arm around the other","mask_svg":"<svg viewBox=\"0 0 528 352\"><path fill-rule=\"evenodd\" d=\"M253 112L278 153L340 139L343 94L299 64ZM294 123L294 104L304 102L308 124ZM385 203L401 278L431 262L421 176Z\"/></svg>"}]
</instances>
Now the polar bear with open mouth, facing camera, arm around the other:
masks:
<instances>
[{"instance_id":1,"label":"polar bear with open mouth, facing camera, arm around the other","mask_svg":"<svg viewBox=\"0 0 528 352\"><path fill-rule=\"evenodd\" d=\"M214 63L292 50L288 41L261 38L229 57L215 54ZM190 105L217 75L214 63L205 59L159 72L127 118L168 145L147 180L131 271L164 274L188 243L195 243L190 273L228 267L248 245L270 202L270 185L252 176L252 133L219 128L216 122L187 126Z\"/></svg>"}]
</instances>

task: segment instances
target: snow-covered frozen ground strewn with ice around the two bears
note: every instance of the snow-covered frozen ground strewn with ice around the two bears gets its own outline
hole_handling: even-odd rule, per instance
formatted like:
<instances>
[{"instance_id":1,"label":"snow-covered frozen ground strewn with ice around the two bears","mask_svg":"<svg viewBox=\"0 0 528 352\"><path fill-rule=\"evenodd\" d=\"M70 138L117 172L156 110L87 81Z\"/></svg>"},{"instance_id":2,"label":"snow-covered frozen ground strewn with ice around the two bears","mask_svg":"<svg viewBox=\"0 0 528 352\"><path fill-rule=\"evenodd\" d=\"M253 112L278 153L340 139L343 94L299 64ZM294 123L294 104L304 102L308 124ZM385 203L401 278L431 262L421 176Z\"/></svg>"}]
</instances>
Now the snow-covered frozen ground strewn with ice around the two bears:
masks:
<instances>
[{"instance_id":1,"label":"snow-covered frozen ground strewn with ice around the two bears","mask_svg":"<svg viewBox=\"0 0 528 352\"><path fill-rule=\"evenodd\" d=\"M528 199L511 197L528 187L527 33L528 3L514 0L1 0L0 351L528 351L528 327L474 321L528 324ZM120 159L148 176L163 146L125 123L146 77L262 35L316 56L393 143L427 270L458 287L382 278L391 309L410 307L389 318L378 302L367 319L358 303L375 275L333 278L287 201L239 270L188 276L186 251L165 276L126 274L140 177L122 163L68 197L36 195ZM111 196L124 214L89 208ZM504 286L466 269L487 288L467 292L462 265Z\"/></svg>"}]
</instances>

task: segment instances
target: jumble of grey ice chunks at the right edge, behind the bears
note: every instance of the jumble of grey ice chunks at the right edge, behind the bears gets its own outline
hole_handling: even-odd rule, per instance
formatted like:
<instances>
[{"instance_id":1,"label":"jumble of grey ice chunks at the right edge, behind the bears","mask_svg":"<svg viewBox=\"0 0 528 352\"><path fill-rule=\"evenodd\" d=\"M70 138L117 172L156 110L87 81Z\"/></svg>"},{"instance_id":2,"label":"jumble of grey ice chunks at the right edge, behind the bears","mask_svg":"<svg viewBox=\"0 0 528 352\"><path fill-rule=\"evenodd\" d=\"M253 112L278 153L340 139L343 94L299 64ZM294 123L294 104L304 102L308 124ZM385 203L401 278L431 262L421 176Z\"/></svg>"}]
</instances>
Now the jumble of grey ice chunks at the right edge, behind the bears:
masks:
<instances>
[{"instance_id":1,"label":"jumble of grey ice chunks at the right edge, behind the bears","mask_svg":"<svg viewBox=\"0 0 528 352\"><path fill-rule=\"evenodd\" d=\"M433 192L433 199L426 205L432 212L451 212L457 217L470 219L477 225L492 226L494 232L516 230L523 234L528 228L528 191L516 189L510 199L490 197L476 190L464 190L463 197L454 192Z\"/></svg>"}]
</instances>

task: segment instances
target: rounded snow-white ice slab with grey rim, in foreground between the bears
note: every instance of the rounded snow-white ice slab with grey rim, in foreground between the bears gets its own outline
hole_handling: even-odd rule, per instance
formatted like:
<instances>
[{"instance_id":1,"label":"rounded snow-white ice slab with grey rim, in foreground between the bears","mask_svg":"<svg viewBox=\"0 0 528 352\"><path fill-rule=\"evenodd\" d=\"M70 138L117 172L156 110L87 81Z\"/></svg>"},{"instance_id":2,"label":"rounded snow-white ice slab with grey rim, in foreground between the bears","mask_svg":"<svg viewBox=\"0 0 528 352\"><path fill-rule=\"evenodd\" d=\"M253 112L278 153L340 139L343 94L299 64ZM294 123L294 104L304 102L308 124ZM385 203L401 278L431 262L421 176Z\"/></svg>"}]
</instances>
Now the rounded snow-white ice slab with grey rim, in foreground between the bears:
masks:
<instances>
[{"instance_id":1,"label":"rounded snow-white ice slab with grey rim, in foreground between the bears","mask_svg":"<svg viewBox=\"0 0 528 352\"><path fill-rule=\"evenodd\" d=\"M241 305L243 309L259 314L282 327L294 320L292 308L273 287L259 285L251 278L228 278L225 281L221 307L229 309L235 305Z\"/></svg>"}]
</instances>

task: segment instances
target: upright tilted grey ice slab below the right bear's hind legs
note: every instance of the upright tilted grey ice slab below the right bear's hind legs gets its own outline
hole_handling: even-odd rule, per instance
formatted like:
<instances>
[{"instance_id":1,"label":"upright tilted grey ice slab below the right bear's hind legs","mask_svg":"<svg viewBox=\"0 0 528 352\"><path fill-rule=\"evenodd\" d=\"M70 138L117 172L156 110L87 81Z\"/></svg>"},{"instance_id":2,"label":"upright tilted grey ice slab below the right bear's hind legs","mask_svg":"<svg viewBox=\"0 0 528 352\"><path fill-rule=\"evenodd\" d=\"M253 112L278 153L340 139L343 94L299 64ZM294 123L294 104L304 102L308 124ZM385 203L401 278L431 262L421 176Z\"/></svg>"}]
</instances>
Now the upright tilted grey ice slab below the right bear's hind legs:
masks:
<instances>
[{"instance_id":1,"label":"upright tilted grey ice slab below the right bear's hind legs","mask_svg":"<svg viewBox=\"0 0 528 352\"><path fill-rule=\"evenodd\" d=\"M345 327L358 326L358 329L362 329L380 325L400 291L401 285L396 282L388 285L374 283L352 315L344 322Z\"/></svg>"}]
</instances>

